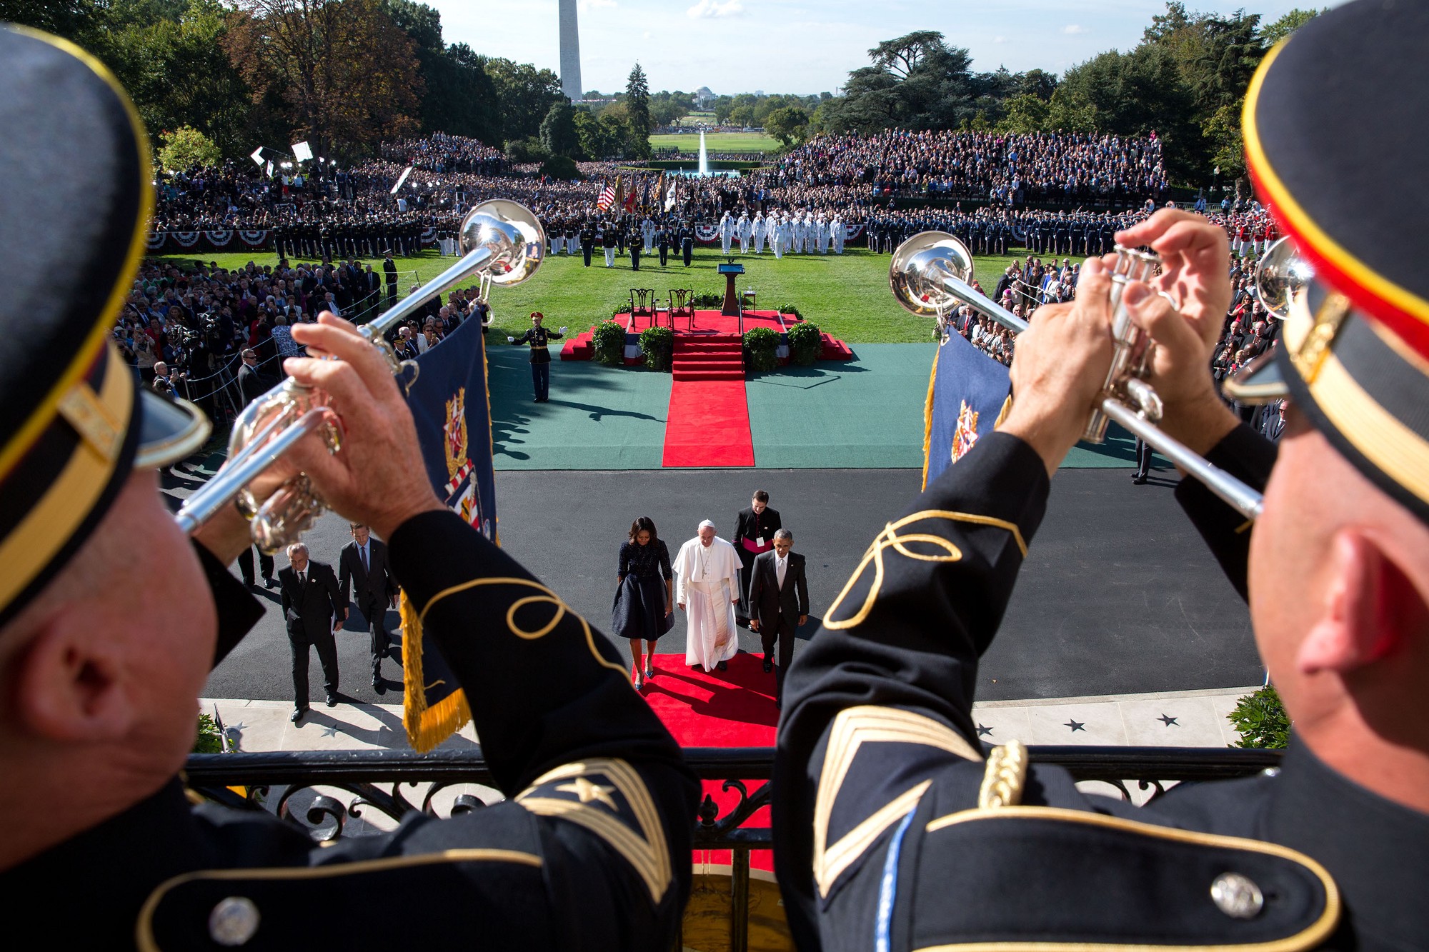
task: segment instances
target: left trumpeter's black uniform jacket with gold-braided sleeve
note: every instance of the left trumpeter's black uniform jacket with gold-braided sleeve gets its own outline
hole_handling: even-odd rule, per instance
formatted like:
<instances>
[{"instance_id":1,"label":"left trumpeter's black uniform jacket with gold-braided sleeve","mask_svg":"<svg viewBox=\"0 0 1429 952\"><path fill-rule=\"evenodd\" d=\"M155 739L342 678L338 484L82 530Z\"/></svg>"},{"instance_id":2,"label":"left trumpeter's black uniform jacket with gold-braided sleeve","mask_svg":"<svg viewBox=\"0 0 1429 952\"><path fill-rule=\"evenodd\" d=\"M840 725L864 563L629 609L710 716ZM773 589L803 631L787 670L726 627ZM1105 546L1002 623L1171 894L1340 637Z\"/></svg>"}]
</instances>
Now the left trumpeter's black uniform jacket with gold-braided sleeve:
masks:
<instances>
[{"instance_id":1,"label":"left trumpeter's black uniform jacket with gold-braided sleeve","mask_svg":"<svg viewBox=\"0 0 1429 952\"><path fill-rule=\"evenodd\" d=\"M56 949L230 948L210 922L229 898L256 913L243 949L667 949L699 785L614 649L453 513L407 520L389 553L509 799L319 848L269 813L191 806L174 779L0 872L6 906L63 911L43 916ZM221 656L260 612L203 563L240 622L220 620ZM83 909L76 876L101 883Z\"/></svg>"}]
</instances>

